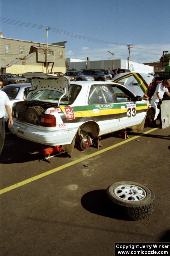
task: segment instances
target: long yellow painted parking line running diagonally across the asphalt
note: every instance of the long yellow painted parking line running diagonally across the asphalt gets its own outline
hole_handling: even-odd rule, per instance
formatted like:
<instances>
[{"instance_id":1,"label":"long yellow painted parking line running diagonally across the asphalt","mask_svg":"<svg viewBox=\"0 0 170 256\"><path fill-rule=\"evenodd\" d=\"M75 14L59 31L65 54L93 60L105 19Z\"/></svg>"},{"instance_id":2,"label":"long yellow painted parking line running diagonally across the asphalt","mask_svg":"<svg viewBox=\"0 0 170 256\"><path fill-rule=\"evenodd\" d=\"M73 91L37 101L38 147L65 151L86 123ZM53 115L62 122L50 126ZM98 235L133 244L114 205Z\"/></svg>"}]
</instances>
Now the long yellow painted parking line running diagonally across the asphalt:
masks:
<instances>
[{"instance_id":1,"label":"long yellow painted parking line running diagonally across the asphalt","mask_svg":"<svg viewBox=\"0 0 170 256\"><path fill-rule=\"evenodd\" d=\"M125 144L125 143L127 143L127 142L130 142L131 140L137 139L137 138L139 138L140 136L143 136L143 135L145 135L145 134L147 134L147 133L151 133L151 132L157 130L158 128L160 128L160 126L157 127L157 128L148 130L148 131L145 132L145 133L140 133L140 134L137 135L137 136L134 136L134 137L132 137L132 138L130 138L130 139L127 139L127 140L124 140L124 141L122 141L122 142L119 142L118 144L112 145L112 146L110 146L110 147L108 147L108 148L101 149L100 151L97 151L97 152L95 152L95 153L92 153L92 154L90 154L90 155L88 155L88 156L85 156L85 157L82 157L82 158L80 158L80 159L77 159L77 160L74 160L74 161L72 161L72 162L69 162L68 164L63 164L63 165L61 165L61 166L59 166L59 167L57 167L57 168L55 168L55 169L49 170L49 171L47 171L47 172L45 172L45 173L41 173L41 174L36 175L36 176L34 176L34 177L31 177L31 178L29 178L29 179L27 179L27 180L23 180L23 181L21 181L21 182L19 182L19 183L16 183L16 184L12 185L12 186L9 186L9 187L6 187L6 188L4 188L4 189L1 189L1 190L0 190L0 195L1 195L1 194L4 194L5 192L8 192L8 191L10 191L10 190L12 190L12 189L16 189L16 188L21 187L21 186L23 186L23 185L25 185L25 184L28 184L28 183L30 183L30 182L32 182L32 181L34 181L34 180L41 179L41 178L43 178L43 177L45 177L45 176L47 176L47 175L49 175L49 174L58 172L58 171L60 171L60 170L62 170L62 169L64 169L64 168L67 168L67 167L69 167L69 166L71 166L71 165L73 165L73 164L77 164L77 163L82 162L82 161L84 161L84 160L86 160L86 159L88 159L88 158L91 158L91 157L94 157L94 156L96 156L96 155L99 155L99 154L101 154L101 153L103 153L103 152L106 152L106 151L112 149L112 148L116 148L116 147L118 147L118 146L120 146L120 145L122 145L122 144Z\"/></svg>"}]
</instances>

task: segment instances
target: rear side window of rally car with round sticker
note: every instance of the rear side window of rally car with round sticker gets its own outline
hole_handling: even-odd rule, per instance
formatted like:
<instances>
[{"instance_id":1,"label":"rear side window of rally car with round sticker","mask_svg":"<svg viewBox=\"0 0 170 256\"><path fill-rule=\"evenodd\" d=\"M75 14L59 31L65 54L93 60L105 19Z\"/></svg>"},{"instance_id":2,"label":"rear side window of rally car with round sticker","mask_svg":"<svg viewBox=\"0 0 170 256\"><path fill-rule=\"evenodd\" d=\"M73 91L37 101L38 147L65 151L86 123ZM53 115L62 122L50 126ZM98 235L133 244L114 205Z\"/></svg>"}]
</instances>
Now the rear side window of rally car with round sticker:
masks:
<instances>
[{"instance_id":1,"label":"rear side window of rally car with round sticker","mask_svg":"<svg viewBox=\"0 0 170 256\"><path fill-rule=\"evenodd\" d=\"M88 104L115 102L107 84L91 86Z\"/></svg>"}]
</instances>

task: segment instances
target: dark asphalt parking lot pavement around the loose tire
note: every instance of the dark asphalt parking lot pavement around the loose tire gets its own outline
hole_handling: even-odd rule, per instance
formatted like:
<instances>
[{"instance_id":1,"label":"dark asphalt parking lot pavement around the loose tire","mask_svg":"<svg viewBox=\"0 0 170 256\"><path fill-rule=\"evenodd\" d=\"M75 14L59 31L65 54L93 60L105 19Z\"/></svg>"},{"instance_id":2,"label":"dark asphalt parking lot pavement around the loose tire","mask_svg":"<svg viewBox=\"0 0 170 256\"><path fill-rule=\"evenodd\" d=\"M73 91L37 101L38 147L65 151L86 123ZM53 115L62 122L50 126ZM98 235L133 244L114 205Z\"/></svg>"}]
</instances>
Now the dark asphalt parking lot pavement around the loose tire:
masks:
<instances>
[{"instance_id":1,"label":"dark asphalt parking lot pavement around the loose tire","mask_svg":"<svg viewBox=\"0 0 170 256\"><path fill-rule=\"evenodd\" d=\"M114 242L169 242L170 127L103 136L48 161L46 146L6 134L0 157L1 256L112 256ZM87 165L88 167L85 167ZM154 213L124 220L106 197L119 181L148 186Z\"/></svg>"}]
</instances>

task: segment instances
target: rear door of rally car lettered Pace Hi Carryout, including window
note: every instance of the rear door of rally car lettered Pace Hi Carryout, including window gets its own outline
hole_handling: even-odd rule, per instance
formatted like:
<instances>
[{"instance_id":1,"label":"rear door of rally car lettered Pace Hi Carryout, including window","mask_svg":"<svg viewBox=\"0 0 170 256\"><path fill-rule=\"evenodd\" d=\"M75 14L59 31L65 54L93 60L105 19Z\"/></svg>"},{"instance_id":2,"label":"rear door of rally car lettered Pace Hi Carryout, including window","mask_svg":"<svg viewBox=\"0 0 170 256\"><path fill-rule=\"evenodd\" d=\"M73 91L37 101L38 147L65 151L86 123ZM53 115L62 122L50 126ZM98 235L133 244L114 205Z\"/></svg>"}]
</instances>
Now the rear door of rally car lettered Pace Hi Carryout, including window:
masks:
<instances>
[{"instance_id":1,"label":"rear door of rally car lettered Pace Hi Carryout, including window","mask_svg":"<svg viewBox=\"0 0 170 256\"><path fill-rule=\"evenodd\" d=\"M99 124L99 135L118 129L118 103L109 85L97 84L91 86L87 108L92 119Z\"/></svg>"}]
</instances>

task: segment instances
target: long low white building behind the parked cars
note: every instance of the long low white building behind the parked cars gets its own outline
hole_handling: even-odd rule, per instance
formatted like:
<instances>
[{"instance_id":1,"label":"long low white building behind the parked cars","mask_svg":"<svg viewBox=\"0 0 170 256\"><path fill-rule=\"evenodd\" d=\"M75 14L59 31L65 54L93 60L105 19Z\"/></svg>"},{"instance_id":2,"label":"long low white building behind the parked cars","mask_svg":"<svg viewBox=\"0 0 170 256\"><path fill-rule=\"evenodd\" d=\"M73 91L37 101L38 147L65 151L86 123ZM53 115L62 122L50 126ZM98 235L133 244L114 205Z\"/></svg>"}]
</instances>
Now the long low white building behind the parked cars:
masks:
<instances>
[{"instance_id":1,"label":"long low white building behind the parked cars","mask_svg":"<svg viewBox=\"0 0 170 256\"><path fill-rule=\"evenodd\" d=\"M87 58L88 59L88 58ZM84 69L112 69L112 60L103 60L103 61L82 61L78 59L66 59L69 67L67 71L82 71ZM128 61L123 59L118 59L113 61L114 69L120 67L121 69L128 69ZM154 67L144 65L138 62L129 62L129 69L131 72L137 73L154 73Z\"/></svg>"}]
</instances>

